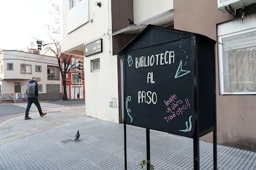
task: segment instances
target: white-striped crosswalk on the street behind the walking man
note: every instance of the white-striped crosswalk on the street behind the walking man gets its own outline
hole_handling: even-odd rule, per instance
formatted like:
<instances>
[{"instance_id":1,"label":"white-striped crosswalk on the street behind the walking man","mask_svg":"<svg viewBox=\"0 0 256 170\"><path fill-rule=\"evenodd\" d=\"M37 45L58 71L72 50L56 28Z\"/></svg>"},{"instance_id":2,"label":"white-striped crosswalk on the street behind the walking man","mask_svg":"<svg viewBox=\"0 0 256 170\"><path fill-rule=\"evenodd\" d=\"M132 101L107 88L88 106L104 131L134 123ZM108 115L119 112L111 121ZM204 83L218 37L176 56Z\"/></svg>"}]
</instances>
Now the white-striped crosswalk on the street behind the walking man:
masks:
<instances>
[{"instance_id":1,"label":"white-striped crosswalk on the street behind the walking man","mask_svg":"<svg viewBox=\"0 0 256 170\"><path fill-rule=\"evenodd\" d=\"M13 103L15 106L20 106L26 109L27 103ZM50 109L66 109L68 106L63 106L61 104L54 104L54 103L40 103L41 109L50 110ZM33 103L30 107L30 111L37 111L37 106Z\"/></svg>"}]
</instances>

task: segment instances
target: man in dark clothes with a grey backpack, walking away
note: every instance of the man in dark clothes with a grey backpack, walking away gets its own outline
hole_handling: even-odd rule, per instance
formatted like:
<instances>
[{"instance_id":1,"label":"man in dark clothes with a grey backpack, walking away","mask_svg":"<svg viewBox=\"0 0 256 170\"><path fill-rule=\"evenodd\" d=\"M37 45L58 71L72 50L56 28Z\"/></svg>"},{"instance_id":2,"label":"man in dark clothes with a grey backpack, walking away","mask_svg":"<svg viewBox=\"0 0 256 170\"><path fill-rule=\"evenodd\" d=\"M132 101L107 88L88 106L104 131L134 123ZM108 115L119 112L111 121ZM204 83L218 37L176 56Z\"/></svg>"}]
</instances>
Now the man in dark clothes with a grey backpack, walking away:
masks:
<instances>
[{"instance_id":1,"label":"man in dark clothes with a grey backpack, walking away","mask_svg":"<svg viewBox=\"0 0 256 170\"><path fill-rule=\"evenodd\" d=\"M25 120L31 119L29 117L29 109L32 105L32 103L35 103L35 106L37 106L38 112L41 117L46 115L47 113L43 113L41 110L40 103L38 101L38 78L34 78L34 80L30 80L29 83L27 84L27 109L26 109L26 115L25 115Z\"/></svg>"}]
</instances>

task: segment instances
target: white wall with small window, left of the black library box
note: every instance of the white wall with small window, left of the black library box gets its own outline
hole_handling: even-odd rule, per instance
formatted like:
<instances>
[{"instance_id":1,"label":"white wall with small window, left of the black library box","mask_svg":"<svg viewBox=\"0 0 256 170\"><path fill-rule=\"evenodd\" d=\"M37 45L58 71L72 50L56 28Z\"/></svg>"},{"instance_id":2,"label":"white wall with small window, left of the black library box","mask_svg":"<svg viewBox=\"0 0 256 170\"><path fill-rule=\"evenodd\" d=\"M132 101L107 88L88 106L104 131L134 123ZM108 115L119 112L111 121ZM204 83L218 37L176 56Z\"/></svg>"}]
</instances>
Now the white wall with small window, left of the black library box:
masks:
<instances>
[{"instance_id":1,"label":"white wall with small window, left of the black library box","mask_svg":"<svg viewBox=\"0 0 256 170\"><path fill-rule=\"evenodd\" d=\"M74 32L68 33L65 25L69 4L68 1L62 1L62 51L102 38L103 52L84 58L85 114L118 123L118 68L117 58L112 55L111 1L101 2L102 6L98 7L96 0L90 0L90 21L93 22L88 22ZM101 69L98 72L91 72L91 60L98 58ZM110 107L112 98L116 101L116 107Z\"/></svg>"}]
</instances>

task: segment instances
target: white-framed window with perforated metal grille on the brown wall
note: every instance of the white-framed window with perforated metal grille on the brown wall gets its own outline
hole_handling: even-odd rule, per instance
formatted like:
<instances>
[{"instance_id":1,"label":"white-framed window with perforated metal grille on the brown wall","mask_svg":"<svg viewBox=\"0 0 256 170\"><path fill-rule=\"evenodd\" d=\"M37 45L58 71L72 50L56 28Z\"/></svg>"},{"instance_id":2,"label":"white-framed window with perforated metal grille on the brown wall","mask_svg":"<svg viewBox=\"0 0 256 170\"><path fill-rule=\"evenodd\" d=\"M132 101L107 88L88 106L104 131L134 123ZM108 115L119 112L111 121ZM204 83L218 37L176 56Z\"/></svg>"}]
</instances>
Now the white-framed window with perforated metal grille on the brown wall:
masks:
<instances>
[{"instance_id":1,"label":"white-framed window with perforated metal grille on the brown wall","mask_svg":"<svg viewBox=\"0 0 256 170\"><path fill-rule=\"evenodd\" d=\"M221 38L221 94L256 94L256 31Z\"/></svg>"}]
</instances>

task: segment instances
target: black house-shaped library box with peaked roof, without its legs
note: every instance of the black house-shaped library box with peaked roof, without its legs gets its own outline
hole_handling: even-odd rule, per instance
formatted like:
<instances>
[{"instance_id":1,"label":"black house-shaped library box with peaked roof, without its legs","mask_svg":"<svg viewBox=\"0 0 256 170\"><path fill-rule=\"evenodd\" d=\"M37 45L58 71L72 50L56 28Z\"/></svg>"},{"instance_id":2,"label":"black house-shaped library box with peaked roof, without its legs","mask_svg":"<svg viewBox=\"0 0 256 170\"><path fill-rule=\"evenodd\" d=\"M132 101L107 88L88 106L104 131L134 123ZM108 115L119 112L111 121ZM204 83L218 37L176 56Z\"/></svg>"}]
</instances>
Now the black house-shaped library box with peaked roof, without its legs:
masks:
<instances>
[{"instance_id":1,"label":"black house-shaped library box with peaked roof, without its legs","mask_svg":"<svg viewBox=\"0 0 256 170\"><path fill-rule=\"evenodd\" d=\"M148 25L119 55L126 124L197 137L215 131L215 41Z\"/></svg>"}]
</instances>

